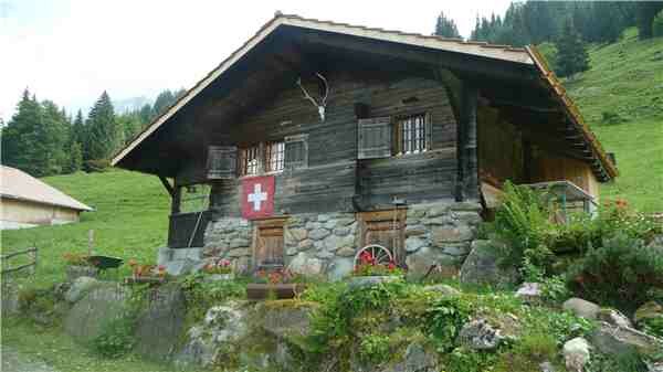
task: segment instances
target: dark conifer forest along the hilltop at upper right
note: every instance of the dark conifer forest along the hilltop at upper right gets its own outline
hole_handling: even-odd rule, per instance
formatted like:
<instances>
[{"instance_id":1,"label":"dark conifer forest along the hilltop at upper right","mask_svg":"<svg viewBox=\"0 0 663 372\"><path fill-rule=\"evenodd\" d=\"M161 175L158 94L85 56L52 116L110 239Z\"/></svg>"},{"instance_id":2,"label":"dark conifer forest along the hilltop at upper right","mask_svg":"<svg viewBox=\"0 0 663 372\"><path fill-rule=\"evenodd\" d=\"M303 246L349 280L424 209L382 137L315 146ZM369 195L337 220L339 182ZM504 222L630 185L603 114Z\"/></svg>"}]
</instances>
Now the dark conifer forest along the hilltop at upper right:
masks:
<instances>
[{"instance_id":1,"label":"dark conifer forest along the hilltop at upper right","mask_svg":"<svg viewBox=\"0 0 663 372\"><path fill-rule=\"evenodd\" d=\"M663 1L526 1L512 2L504 17L476 17L470 40L524 46L544 44L560 76L589 68L586 43L615 42L624 29L636 26L641 40L663 30ZM453 20L441 13L434 34L459 38ZM663 35L663 34L659 34Z\"/></svg>"}]
</instances>

